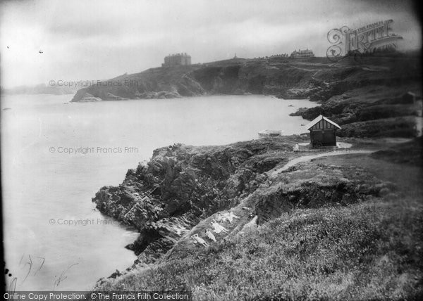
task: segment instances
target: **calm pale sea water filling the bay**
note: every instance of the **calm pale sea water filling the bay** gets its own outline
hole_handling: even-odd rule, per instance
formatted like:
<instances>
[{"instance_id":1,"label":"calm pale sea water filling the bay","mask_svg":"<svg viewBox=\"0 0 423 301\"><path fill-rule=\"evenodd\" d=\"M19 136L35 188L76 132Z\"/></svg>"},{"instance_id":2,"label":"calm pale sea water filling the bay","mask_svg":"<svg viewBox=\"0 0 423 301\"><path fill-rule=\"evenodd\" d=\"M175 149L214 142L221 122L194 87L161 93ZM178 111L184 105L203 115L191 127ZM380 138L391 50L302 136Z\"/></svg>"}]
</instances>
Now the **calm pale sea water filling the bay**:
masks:
<instances>
[{"instance_id":1,"label":"calm pale sea water filling the bay","mask_svg":"<svg viewBox=\"0 0 423 301\"><path fill-rule=\"evenodd\" d=\"M300 134L307 121L288 114L315 105L271 96L65 104L70 99L2 98L6 278L16 290L87 290L133 264L123 247L137 233L100 214L91 198L120 184L154 148L257 139L262 129Z\"/></svg>"}]
</instances>

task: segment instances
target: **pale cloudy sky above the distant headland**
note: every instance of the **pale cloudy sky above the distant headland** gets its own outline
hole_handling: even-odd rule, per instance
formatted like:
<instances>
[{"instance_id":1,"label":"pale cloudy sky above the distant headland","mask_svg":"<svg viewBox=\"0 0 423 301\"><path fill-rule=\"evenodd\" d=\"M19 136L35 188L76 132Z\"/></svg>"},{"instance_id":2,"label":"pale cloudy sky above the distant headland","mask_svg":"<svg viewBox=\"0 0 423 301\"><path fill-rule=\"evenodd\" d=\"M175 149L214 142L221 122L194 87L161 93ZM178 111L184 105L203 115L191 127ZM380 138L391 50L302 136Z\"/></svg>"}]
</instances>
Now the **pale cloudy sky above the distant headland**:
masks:
<instances>
[{"instance_id":1,"label":"pale cloudy sky above the distant headland","mask_svg":"<svg viewBox=\"0 0 423 301\"><path fill-rule=\"evenodd\" d=\"M306 48L326 56L332 28L388 19L401 49L419 49L416 15L401 0L3 1L0 85L109 79L180 52L192 63Z\"/></svg>"}]
</instances>

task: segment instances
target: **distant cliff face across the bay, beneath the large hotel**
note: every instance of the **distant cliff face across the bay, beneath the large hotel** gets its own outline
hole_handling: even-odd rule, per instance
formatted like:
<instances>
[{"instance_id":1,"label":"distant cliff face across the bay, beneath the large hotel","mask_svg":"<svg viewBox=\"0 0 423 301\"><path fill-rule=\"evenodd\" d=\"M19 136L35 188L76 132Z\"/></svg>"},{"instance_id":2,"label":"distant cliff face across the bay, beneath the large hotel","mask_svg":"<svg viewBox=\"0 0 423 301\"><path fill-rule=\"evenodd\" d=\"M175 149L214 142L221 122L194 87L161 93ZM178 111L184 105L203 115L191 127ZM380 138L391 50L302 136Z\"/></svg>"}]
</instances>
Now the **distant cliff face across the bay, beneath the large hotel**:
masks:
<instances>
[{"instance_id":1,"label":"distant cliff face across the bay, beneath the large hotel","mask_svg":"<svg viewBox=\"0 0 423 301\"><path fill-rule=\"evenodd\" d=\"M330 68L314 59L303 65L297 60L233 59L189 66L152 68L121 75L80 89L73 102L85 96L102 100L126 98L177 98L205 94L281 94L287 89L314 87L312 77Z\"/></svg>"}]
</instances>

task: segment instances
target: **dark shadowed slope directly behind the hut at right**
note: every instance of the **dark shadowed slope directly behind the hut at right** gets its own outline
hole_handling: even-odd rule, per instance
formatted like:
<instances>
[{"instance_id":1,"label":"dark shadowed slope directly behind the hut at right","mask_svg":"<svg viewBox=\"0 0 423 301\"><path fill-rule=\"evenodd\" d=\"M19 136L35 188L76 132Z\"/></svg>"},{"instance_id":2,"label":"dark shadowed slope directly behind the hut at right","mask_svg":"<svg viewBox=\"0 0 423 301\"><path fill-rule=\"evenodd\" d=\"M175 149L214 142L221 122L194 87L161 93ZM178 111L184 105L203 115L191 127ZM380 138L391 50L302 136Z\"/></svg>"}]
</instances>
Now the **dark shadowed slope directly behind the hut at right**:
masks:
<instances>
[{"instance_id":1,"label":"dark shadowed slope directly behind the hut at right","mask_svg":"<svg viewBox=\"0 0 423 301\"><path fill-rule=\"evenodd\" d=\"M339 136L378 137L404 136L414 133L416 106L401 103L405 91L421 94L416 82L386 87L369 85L345 91L323 101L321 106L307 109L300 115L312 119L325 115L341 125Z\"/></svg>"}]
</instances>

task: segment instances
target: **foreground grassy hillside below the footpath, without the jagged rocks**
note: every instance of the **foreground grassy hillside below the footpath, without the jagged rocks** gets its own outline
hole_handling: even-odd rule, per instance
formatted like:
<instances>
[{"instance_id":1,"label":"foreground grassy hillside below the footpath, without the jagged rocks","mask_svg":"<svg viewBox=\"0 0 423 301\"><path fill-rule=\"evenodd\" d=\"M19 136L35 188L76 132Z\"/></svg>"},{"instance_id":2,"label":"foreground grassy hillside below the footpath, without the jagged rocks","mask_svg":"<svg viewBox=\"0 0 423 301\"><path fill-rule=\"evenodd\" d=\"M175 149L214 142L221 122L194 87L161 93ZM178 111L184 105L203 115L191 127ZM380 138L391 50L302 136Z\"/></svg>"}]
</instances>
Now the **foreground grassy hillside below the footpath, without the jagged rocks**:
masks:
<instances>
[{"instance_id":1,"label":"foreground grassy hillside below the footpath, without the jagged rocks","mask_svg":"<svg viewBox=\"0 0 423 301\"><path fill-rule=\"evenodd\" d=\"M227 210L203 214L164 257L103 278L96 290L192 290L194 300L419 300L422 145L399 142L353 139L350 153L285 171L281 160L234 200L239 219L226 222L216 242L204 231ZM353 152L364 149L372 153ZM257 155L298 157L270 149L249 160ZM208 245L193 243L194 233Z\"/></svg>"}]
</instances>

